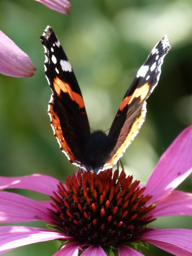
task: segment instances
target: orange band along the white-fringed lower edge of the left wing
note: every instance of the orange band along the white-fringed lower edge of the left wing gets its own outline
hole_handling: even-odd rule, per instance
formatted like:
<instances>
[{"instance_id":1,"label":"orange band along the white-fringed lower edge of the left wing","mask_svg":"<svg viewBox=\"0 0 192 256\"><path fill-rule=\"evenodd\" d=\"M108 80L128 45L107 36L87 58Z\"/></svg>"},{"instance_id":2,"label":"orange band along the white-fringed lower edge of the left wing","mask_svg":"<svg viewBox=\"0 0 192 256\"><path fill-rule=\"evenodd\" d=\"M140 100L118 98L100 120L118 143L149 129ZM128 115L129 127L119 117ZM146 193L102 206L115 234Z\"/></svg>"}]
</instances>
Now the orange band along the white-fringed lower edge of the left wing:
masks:
<instances>
[{"instance_id":1,"label":"orange band along the white-fringed lower edge of the left wing","mask_svg":"<svg viewBox=\"0 0 192 256\"><path fill-rule=\"evenodd\" d=\"M67 156L68 160L72 161L73 163L76 162L76 157L74 156L73 152L70 150L69 145L67 144L66 140L63 137L63 132L61 130L61 125L57 114L52 109L52 103L49 103L49 116L51 118L51 125L54 131L54 135L57 138L57 141L60 145L61 150Z\"/></svg>"}]
</instances>

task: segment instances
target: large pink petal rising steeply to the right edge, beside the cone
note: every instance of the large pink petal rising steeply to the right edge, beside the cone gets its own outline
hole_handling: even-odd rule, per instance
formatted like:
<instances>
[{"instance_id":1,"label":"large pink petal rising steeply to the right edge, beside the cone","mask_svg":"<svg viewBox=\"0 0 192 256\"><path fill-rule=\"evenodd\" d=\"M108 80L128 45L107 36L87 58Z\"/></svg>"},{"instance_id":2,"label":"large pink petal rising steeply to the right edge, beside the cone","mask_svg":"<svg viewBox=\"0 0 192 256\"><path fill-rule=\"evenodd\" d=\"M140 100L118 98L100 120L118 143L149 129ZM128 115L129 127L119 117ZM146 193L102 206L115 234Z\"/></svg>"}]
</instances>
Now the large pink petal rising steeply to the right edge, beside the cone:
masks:
<instances>
[{"instance_id":1,"label":"large pink petal rising steeply to the right edge, beside the cone","mask_svg":"<svg viewBox=\"0 0 192 256\"><path fill-rule=\"evenodd\" d=\"M146 184L151 202L169 194L192 172L192 125L186 128L162 155Z\"/></svg>"}]
</instances>

